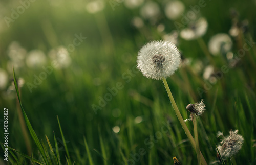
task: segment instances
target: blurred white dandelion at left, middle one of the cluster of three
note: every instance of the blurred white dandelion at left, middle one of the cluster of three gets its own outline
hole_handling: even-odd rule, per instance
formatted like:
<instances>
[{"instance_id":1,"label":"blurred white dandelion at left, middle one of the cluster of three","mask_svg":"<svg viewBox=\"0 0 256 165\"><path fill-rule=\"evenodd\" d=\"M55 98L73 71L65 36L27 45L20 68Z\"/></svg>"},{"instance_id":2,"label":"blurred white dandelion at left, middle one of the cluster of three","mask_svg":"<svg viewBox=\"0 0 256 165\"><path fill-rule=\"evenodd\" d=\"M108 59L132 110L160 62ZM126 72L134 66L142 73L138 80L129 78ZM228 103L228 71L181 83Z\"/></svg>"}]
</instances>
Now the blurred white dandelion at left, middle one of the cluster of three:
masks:
<instances>
[{"instance_id":1,"label":"blurred white dandelion at left, middle one of the cluster of three","mask_svg":"<svg viewBox=\"0 0 256 165\"><path fill-rule=\"evenodd\" d=\"M32 50L26 57L26 64L30 68L44 66L47 62L47 58L44 52L40 50Z\"/></svg>"}]
</instances>

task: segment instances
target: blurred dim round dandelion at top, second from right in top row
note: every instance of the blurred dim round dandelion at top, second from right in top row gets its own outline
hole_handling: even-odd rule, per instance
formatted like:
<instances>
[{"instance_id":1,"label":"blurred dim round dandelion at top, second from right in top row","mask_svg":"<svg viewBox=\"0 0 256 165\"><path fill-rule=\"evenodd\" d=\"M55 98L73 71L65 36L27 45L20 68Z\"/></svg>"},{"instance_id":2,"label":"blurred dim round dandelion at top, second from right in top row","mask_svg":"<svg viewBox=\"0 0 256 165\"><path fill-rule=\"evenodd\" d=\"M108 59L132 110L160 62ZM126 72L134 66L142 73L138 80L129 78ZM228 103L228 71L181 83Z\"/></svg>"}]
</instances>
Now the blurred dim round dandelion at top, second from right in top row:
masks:
<instances>
[{"instance_id":1,"label":"blurred dim round dandelion at top, second from right in top row","mask_svg":"<svg viewBox=\"0 0 256 165\"><path fill-rule=\"evenodd\" d=\"M152 19L160 14L160 8L156 2L148 1L141 7L140 14L144 19Z\"/></svg>"}]
</instances>

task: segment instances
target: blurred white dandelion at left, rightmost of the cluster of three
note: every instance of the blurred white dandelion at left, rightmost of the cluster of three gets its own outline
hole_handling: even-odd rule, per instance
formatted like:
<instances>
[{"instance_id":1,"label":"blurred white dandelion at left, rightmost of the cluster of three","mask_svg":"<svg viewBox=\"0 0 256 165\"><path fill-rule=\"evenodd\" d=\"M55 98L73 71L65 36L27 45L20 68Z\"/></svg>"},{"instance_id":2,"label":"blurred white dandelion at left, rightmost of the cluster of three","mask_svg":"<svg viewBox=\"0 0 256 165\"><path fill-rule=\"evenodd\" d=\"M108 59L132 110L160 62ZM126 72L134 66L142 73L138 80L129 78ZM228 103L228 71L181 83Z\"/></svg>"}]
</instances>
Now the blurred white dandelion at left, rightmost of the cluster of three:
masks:
<instances>
[{"instance_id":1,"label":"blurred white dandelion at left, rightmost of the cluster of three","mask_svg":"<svg viewBox=\"0 0 256 165\"><path fill-rule=\"evenodd\" d=\"M56 68L66 68L71 64L69 52L63 46L49 52L50 59L55 63Z\"/></svg>"}]
</instances>

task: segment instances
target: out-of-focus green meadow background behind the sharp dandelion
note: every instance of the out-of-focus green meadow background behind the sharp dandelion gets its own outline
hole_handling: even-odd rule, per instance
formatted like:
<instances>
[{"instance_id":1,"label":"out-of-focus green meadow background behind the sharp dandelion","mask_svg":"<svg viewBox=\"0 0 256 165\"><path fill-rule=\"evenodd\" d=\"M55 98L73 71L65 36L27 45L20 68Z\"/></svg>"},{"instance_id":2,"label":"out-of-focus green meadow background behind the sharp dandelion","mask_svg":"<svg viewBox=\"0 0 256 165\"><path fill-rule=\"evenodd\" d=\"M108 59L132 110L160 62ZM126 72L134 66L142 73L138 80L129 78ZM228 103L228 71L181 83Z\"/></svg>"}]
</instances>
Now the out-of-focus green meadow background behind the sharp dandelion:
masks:
<instances>
[{"instance_id":1,"label":"out-of-focus green meadow background behind the sharp dandelion","mask_svg":"<svg viewBox=\"0 0 256 165\"><path fill-rule=\"evenodd\" d=\"M172 164L174 156L196 164L163 83L136 69L145 43L167 40L182 54L167 82L183 118L189 103L206 104L198 119L206 161L218 161L217 132L238 129L245 142L234 159L254 164L255 8L255 0L2 0L0 130L8 108L9 146L41 159L17 102L13 66L31 125L46 146L45 135L53 145L55 132L61 163L57 115L72 163L89 164L84 136L94 164Z\"/></svg>"}]
</instances>

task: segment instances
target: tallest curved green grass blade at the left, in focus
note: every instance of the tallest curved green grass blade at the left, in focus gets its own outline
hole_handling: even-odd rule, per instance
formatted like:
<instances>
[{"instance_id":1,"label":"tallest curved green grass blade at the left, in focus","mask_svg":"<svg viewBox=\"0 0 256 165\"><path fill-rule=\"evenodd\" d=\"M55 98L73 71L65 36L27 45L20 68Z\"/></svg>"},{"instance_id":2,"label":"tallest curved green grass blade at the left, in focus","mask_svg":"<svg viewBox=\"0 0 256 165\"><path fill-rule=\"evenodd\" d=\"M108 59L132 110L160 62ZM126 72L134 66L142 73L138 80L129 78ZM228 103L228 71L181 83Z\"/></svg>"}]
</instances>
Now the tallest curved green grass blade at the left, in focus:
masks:
<instances>
[{"instance_id":1,"label":"tallest curved green grass blade at the left, in focus","mask_svg":"<svg viewBox=\"0 0 256 165\"><path fill-rule=\"evenodd\" d=\"M23 112L23 115L24 115L24 119L25 119L25 122L28 126L28 129L29 129L29 132L30 132L30 135L32 136L39 152L41 153L42 155L42 158L44 160L44 162L47 162L47 158L46 158L46 155L44 153L44 149L42 148L41 144L40 144L40 141L35 133L35 131L33 130L32 128L32 125L30 124L29 122L29 119L28 119L28 116L27 114L25 113L25 110L22 106L22 102L20 101L20 96L19 96L19 91L18 91L18 85L17 85L17 80L16 80L16 77L15 77L15 72L14 72L14 68L13 68L13 81L14 81L14 85L15 85L15 89L16 89L16 92L17 92L17 97L18 97L18 101L19 101L19 104L20 104L20 107L22 108L22 112Z\"/></svg>"}]
</instances>

